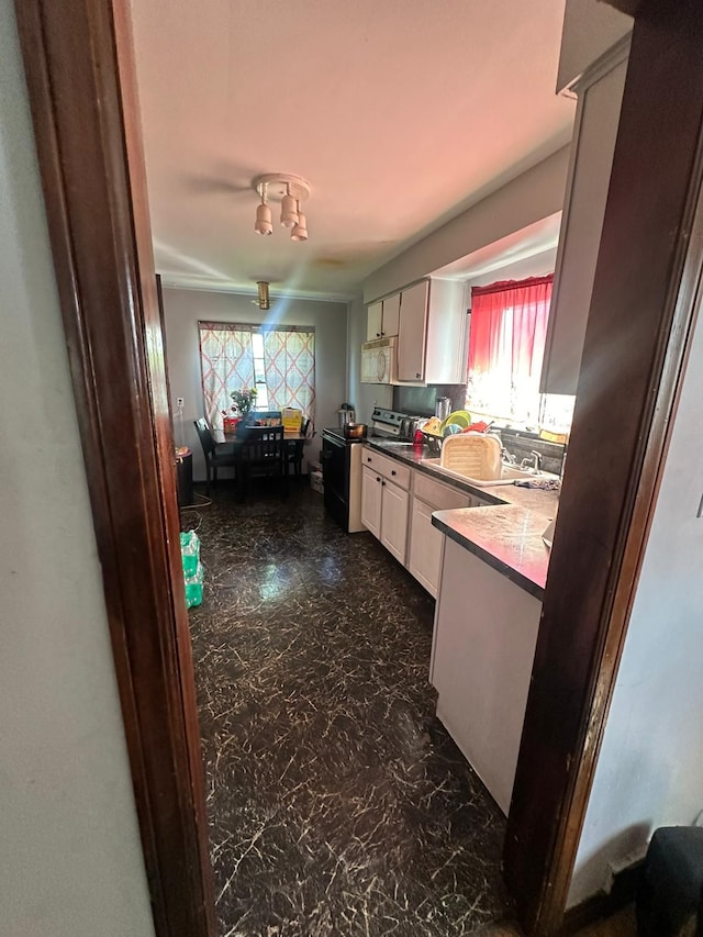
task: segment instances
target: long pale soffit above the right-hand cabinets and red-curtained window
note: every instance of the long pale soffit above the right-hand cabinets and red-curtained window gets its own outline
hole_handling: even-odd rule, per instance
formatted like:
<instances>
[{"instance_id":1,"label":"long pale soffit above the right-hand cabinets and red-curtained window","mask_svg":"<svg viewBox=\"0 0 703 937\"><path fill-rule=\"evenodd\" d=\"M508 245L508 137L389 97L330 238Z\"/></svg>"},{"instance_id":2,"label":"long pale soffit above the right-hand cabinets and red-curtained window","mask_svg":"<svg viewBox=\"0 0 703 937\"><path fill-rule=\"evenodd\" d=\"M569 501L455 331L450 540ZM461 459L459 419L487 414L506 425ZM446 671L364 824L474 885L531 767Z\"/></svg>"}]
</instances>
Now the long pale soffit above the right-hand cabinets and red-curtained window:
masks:
<instances>
[{"instance_id":1,"label":"long pale soffit above the right-hand cabinets and red-curtained window","mask_svg":"<svg viewBox=\"0 0 703 937\"><path fill-rule=\"evenodd\" d=\"M409 247L367 278L365 302L561 211L568 161L569 146L565 146Z\"/></svg>"}]
</instances>

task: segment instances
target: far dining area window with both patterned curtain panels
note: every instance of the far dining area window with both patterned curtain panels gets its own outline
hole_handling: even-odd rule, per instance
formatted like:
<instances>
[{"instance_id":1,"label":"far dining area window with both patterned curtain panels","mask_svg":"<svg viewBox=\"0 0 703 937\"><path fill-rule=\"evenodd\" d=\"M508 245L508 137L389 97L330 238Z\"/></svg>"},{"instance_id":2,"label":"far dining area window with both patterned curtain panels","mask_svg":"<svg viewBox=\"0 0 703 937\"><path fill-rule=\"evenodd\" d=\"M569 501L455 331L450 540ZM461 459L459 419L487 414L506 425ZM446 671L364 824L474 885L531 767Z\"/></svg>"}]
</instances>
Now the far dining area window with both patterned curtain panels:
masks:
<instances>
[{"instance_id":1,"label":"far dining area window with both patterned curtain panels","mask_svg":"<svg viewBox=\"0 0 703 937\"><path fill-rule=\"evenodd\" d=\"M205 416L222 426L233 390L255 387L257 410L294 406L314 419L315 333L306 326L199 322Z\"/></svg>"}]
</instances>

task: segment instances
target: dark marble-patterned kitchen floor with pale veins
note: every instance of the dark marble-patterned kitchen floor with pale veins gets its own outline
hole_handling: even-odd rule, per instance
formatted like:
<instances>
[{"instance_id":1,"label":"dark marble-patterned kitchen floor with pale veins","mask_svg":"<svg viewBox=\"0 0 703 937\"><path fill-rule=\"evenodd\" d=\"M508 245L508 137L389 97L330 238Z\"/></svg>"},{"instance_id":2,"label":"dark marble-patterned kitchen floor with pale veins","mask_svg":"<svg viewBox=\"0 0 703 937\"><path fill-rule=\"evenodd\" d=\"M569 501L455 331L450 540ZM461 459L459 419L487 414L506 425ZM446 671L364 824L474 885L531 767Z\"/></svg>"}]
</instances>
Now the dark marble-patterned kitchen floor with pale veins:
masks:
<instances>
[{"instance_id":1,"label":"dark marble-patterned kitchen floor with pale veins","mask_svg":"<svg viewBox=\"0 0 703 937\"><path fill-rule=\"evenodd\" d=\"M434 602L322 499L221 486L190 613L226 937L457 937L501 922L504 819L434 716Z\"/></svg>"}]
</instances>

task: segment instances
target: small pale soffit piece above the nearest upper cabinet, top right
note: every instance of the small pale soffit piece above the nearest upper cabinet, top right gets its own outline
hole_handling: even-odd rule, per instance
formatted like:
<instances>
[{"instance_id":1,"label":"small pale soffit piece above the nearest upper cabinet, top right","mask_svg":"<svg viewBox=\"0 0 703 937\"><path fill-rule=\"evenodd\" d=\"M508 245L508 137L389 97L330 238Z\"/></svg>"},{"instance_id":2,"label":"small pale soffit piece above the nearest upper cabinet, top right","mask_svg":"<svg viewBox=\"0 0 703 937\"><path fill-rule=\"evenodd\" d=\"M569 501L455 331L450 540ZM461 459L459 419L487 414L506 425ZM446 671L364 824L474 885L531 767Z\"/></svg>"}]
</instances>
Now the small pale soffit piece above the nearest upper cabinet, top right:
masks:
<instances>
[{"instance_id":1,"label":"small pale soffit piece above the nearest upper cabinet, top right","mask_svg":"<svg viewBox=\"0 0 703 937\"><path fill-rule=\"evenodd\" d=\"M609 48L626 36L633 19L603 0L567 0L557 90L562 91Z\"/></svg>"}]
</instances>

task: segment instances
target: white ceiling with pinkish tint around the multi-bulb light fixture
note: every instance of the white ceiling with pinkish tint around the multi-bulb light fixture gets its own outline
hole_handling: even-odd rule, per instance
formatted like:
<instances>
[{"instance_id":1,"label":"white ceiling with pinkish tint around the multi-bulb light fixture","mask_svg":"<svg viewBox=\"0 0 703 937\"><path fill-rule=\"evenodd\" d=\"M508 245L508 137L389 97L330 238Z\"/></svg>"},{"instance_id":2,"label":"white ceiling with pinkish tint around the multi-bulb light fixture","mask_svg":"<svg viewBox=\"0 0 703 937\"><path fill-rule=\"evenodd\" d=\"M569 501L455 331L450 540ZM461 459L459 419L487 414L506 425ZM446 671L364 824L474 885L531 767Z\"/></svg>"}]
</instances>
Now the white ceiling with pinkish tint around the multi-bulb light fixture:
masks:
<instances>
[{"instance_id":1,"label":"white ceiling with pinkish tint around the multi-bulb light fixture","mask_svg":"<svg viewBox=\"0 0 703 937\"><path fill-rule=\"evenodd\" d=\"M350 295L563 146L565 0L132 3L166 282ZM310 239L254 232L260 172L306 178ZM275 219L276 221L276 219Z\"/></svg>"}]
</instances>

